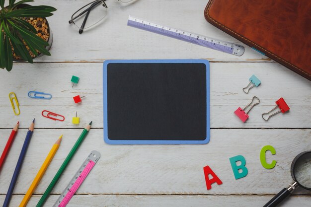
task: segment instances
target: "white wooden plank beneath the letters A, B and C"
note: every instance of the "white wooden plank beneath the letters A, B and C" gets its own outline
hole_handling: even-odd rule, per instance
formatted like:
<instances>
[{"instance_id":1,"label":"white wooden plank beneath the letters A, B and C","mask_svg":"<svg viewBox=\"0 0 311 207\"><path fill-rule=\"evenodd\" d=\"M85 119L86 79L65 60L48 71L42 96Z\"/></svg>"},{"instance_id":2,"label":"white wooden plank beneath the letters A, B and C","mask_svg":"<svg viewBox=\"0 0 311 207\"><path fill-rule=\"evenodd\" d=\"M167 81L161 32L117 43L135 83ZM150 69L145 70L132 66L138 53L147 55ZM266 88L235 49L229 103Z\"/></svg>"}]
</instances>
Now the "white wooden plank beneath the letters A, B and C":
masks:
<instances>
[{"instance_id":1,"label":"white wooden plank beneath the letters A, B and C","mask_svg":"<svg viewBox=\"0 0 311 207\"><path fill-rule=\"evenodd\" d=\"M9 130L0 130L8 135ZM20 130L0 173L0 194L5 194L26 130ZM64 161L80 129L35 129L14 193L24 194L41 166L48 149L63 134L63 141L35 191L42 194ZM290 166L294 157L311 148L311 130L212 130L211 141L203 145L108 145L102 129L91 129L74 159L61 177L53 194L60 194L90 151L98 150L101 158L78 193L151 194L151 195L273 195L291 181ZM1 139L0 150L5 140ZM267 160L277 161L267 170L260 164L264 145L275 147L276 155L267 152ZM248 175L235 180L230 157L242 155ZM209 165L223 181L207 191L203 167ZM297 190L296 194L310 192Z\"/></svg>"}]
</instances>

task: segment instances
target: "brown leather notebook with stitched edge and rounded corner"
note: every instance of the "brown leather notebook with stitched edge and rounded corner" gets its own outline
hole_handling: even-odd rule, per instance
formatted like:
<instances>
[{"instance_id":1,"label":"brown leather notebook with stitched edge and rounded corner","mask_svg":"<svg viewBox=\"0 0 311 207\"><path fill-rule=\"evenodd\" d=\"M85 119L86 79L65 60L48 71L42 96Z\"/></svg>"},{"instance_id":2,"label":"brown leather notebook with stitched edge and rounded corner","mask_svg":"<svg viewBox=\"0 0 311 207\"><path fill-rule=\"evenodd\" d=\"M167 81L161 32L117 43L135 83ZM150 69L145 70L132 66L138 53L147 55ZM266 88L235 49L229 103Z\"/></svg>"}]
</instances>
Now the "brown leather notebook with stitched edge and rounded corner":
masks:
<instances>
[{"instance_id":1,"label":"brown leather notebook with stitched edge and rounded corner","mask_svg":"<svg viewBox=\"0 0 311 207\"><path fill-rule=\"evenodd\" d=\"M208 22L311 80L311 0L210 0Z\"/></svg>"}]
</instances>

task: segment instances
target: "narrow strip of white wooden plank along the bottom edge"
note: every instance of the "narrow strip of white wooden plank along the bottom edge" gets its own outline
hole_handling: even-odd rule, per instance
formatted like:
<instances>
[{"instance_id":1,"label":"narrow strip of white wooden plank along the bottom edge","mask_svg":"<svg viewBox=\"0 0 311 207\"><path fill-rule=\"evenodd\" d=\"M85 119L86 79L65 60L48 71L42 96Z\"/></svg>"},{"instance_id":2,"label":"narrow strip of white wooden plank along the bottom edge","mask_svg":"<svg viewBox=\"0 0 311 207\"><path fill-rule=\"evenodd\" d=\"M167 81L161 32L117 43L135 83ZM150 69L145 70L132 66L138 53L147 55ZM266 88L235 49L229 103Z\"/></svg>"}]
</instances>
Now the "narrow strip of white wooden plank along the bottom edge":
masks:
<instances>
[{"instance_id":1,"label":"narrow strip of white wooden plank along the bottom edge","mask_svg":"<svg viewBox=\"0 0 311 207\"><path fill-rule=\"evenodd\" d=\"M272 196L120 196L120 195L84 195L74 196L67 207L230 207L263 206ZM33 196L28 206L34 207L39 201L39 196ZM51 196L45 206L54 205L58 196ZM0 196L0 202L4 196ZM12 197L12 206L19 205L22 196ZM281 207L308 207L311 197L291 196Z\"/></svg>"}]
</instances>

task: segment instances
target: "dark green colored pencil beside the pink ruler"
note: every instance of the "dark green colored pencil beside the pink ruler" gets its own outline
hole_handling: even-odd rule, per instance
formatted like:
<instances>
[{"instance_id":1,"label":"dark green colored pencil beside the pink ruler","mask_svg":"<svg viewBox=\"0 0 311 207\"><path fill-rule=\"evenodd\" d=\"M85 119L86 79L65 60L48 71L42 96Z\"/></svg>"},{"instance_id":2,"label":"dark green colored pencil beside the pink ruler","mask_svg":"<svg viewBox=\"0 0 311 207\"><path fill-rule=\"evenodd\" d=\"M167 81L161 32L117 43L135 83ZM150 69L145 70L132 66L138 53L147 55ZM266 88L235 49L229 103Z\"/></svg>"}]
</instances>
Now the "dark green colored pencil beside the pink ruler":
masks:
<instances>
[{"instance_id":1,"label":"dark green colored pencil beside the pink ruler","mask_svg":"<svg viewBox=\"0 0 311 207\"><path fill-rule=\"evenodd\" d=\"M84 140L84 138L86 137L88 131L91 129L91 125L92 122L90 122L83 130L83 132L81 133L80 137L78 138L78 140L76 141L75 145L73 146L73 148L71 149L71 151L69 152L69 154L67 155L65 161L63 162L62 166L60 167L60 169L57 171L56 175L54 176L52 182L50 183L49 187L46 189L46 191L44 192L43 196L41 197L40 201L38 202L36 207L42 207L45 203L45 201L48 199L51 191L53 190L54 186L56 185L57 181L60 179L61 175L63 174L63 172L65 171L68 163L70 162L71 158L75 155L78 147L80 146L80 144L82 143L82 141Z\"/></svg>"}]
</instances>

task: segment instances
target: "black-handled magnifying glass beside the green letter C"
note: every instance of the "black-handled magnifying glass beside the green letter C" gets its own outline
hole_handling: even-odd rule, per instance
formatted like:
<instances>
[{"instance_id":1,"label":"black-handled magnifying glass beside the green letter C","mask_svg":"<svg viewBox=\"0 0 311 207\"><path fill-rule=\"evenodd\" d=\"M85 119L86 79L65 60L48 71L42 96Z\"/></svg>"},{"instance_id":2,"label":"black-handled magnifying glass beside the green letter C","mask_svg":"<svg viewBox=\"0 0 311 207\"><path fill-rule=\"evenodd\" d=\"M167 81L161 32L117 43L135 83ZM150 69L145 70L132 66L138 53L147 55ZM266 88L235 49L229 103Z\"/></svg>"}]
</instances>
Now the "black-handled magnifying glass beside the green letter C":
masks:
<instances>
[{"instance_id":1,"label":"black-handled magnifying glass beside the green letter C","mask_svg":"<svg viewBox=\"0 0 311 207\"><path fill-rule=\"evenodd\" d=\"M305 151L295 157L291 165L294 181L273 197L263 207L276 207L299 186L311 190L311 151Z\"/></svg>"}]
</instances>

